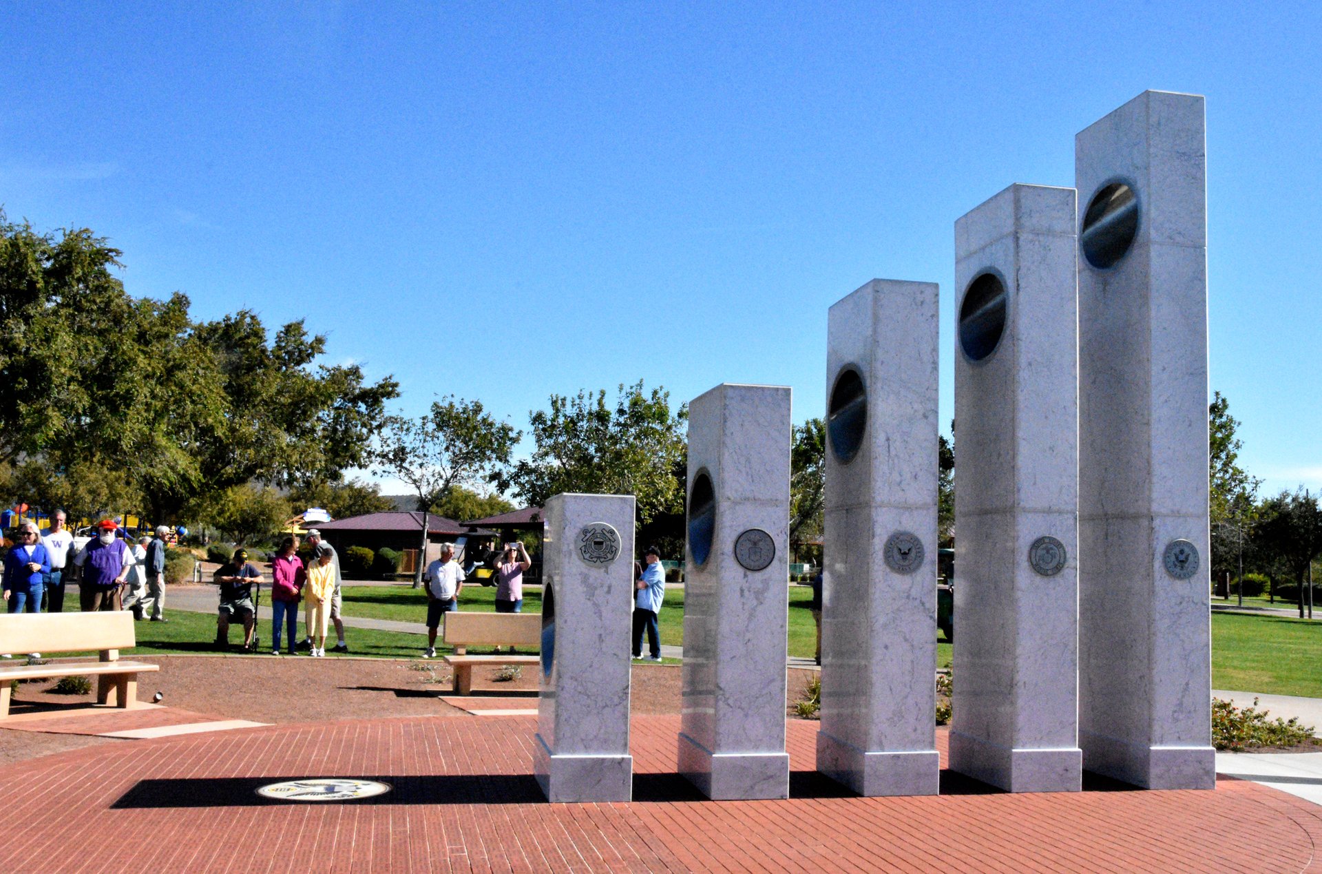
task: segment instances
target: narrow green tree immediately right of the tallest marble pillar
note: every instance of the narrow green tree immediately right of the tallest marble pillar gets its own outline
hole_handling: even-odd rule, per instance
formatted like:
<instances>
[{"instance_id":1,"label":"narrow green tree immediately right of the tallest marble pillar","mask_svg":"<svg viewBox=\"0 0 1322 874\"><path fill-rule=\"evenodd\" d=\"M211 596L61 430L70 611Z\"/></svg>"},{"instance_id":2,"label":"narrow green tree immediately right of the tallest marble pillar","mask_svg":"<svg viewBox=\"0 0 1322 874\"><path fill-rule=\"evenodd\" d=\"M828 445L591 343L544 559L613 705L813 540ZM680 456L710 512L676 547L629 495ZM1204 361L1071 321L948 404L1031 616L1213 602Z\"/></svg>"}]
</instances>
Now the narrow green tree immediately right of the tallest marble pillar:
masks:
<instances>
[{"instance_id":1,"label":"narrow green tree immediately right of the tallest marble pillar","mask_svg":"<svg viewBox=\"0 0 1322 874\"><path fill-rule=\"evenodd\" d=\"M1220 391L1207 407L1208 516L1211 521L1211 574L1215 579L1233 573L1243 576L1245 541L1256 518L1256 493L1263 480L1239 465L1243 442L1235 435L1239 420L1229 414L1229 401ZM1229 595L1229 592L1227 592Z\"/></svg>"}]
</instances>

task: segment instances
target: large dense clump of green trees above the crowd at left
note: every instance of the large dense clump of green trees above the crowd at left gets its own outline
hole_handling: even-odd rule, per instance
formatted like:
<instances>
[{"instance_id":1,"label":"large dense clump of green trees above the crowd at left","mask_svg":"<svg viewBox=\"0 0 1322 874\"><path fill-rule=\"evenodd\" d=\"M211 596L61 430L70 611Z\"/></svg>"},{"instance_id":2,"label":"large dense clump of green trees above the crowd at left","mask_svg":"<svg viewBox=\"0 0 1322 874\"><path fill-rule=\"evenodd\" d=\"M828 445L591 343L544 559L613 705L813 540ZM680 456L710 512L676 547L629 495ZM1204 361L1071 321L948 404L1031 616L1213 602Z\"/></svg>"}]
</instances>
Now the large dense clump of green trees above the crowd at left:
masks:
<instances>
[{"instance_id":1,"label":"large dense clump of green trees above the crowd at left","mask_svg":"<svg viewBox=\"0 0 1322 874\"><path fill-rule=\"evenodd\" d=\"M87 229L38 234L0 213L0 378L40 399L0 405L0 461L36 465L25 481L48 495L108 465L127 479L114 500L156 521L249 481L333 481L365 463L394 379L315 365L325 337L301 321L268 341L249 311L194 323L181 294L135 299L120 257Z\"/></svg>"}]
</instances>

